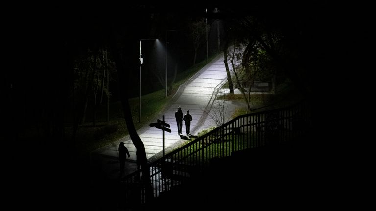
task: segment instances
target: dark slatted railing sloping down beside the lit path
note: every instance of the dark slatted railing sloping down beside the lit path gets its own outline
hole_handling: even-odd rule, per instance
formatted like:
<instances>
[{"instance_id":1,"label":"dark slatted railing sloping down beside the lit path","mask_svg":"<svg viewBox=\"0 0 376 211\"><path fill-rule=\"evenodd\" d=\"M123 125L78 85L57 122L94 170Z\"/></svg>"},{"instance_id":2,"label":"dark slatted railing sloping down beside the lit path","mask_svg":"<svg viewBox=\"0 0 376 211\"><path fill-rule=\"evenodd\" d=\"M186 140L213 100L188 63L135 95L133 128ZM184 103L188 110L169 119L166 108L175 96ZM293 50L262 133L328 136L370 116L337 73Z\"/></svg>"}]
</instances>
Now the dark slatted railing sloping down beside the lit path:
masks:
<instances>
[{"instance_id":1,"label":"dark slatted railing sloping down beside the lit path","mask_svg":"<svg viewBox=\"0 0 376 211\"><path fill-rule=\"evenodd\" d=\"M189 142L149 164L153 198L200 174L213 158L266 145L282 144L301 136L311 127L310 104L300 102L282 109L246 114ZM146 188L141 169L122 180L124 203L144 204Z\"/></svg>"}]
</instances>

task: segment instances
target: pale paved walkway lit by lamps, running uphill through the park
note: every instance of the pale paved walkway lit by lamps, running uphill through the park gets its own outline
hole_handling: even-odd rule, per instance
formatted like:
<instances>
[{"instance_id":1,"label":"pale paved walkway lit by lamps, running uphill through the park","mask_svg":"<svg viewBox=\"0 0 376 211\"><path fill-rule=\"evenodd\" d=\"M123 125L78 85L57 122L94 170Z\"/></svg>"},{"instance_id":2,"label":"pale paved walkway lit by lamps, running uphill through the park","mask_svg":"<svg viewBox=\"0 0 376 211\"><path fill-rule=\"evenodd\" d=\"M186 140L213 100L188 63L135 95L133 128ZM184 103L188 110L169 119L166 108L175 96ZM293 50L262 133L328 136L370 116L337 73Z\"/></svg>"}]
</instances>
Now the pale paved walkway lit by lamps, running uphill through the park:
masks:
<instances>
[{"instance_id":1,"label":"pale paved walkway lit by lamps, running uphill through the park","mask_svg":"<svg viewBox=\"0 0 376 211\"><path fill-rule=\"evenodd\" d=\"M174 97L171 99L169 108L165 111L164 121L170 124L171 133L164 132L165 154L190 139L190 136L178 135L175 121L175 111L182 107L183 114L190 110L193 121L191 122L190 134L193 136L200 132L203 127L210 127L213 121L208 121L207 112L215 100L218 88L226 82L227 74L223 63L223 54L218 55L214 60L205 65L199 72L192 76L186 83L182 84ZM158 119L162 120L162 116ZM156 122L155 120L154 122ZM186 134L183 123L183 134ZM158 159L162 156L162 131L155 127L145 125L138 130L138 134L145 145L148 161ZM126 172L124 175L134 172L136 165L136 148L129 136L92 152L92 163L100 165L100 168L110 178L118 177L118 145L124 142L130 153L127 159Z\"/></svg>"}]
</instances>

